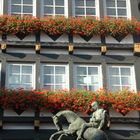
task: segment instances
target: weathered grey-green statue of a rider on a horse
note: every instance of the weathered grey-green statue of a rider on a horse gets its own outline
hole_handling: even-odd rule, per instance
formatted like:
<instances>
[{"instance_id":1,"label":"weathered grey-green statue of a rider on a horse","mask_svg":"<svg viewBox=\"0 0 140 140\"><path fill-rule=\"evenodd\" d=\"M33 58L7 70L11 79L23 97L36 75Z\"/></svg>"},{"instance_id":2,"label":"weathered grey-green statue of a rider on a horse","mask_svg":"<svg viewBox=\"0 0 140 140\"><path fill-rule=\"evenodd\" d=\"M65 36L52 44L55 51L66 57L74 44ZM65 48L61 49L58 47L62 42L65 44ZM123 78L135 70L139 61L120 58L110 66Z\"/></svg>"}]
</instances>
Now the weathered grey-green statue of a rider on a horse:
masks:
<instances>
[{"instance_id":1,"label":"weathered grey-green statue of a rider on a horse","mask_svg":"<svg viewBox=\"0 0 140 140\"><path fill-rule=\"evenodd\" d=\"M94 112L89 123L70 110L58 112L53 117L58 132L54 133L50 140L107 140L103 130L107 127L109 116L104 109L99 109L97 102L93 102L91 107ZM62 128L63 118L69 123L67 130Z\"/></svg>"}]
</instances>

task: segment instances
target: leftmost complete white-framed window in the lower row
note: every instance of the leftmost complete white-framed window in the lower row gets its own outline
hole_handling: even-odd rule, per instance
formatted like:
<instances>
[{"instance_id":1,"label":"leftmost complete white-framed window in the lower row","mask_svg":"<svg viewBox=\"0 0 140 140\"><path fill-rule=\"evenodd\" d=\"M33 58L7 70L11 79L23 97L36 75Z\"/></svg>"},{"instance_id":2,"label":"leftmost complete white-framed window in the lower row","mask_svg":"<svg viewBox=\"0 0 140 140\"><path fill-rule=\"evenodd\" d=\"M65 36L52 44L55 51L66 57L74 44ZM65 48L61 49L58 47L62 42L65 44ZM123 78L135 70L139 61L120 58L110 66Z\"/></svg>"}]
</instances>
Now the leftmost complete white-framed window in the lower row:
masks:
<instances>
[{"instance_id":1,"label":"leftmost complete white-framed window in the lower row","mask_svg":"<svg viewBox=\"0 0 140 140\"><path fill-rule=\"evenodd\" d=\"M8 88L35 88L34 64L8 64L7 68Z\"/></svg>"}]
</instances>

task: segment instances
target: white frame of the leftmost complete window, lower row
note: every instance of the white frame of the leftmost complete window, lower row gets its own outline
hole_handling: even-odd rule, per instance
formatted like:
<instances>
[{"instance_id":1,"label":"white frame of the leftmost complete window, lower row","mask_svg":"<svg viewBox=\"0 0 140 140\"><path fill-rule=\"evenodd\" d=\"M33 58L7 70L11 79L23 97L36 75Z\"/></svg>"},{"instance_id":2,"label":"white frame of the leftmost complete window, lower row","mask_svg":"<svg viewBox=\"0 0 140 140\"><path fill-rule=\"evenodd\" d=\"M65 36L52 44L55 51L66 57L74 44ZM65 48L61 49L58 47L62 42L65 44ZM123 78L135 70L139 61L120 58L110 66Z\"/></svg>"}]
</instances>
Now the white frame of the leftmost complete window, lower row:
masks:
<instances>
[{"instance_id":1,"label":"white frame of the leftmost complete window, lower row","mask_svg":"<svg viewBox=\"0 0 140 140\"><path fill-rule=\"evenodd\" d=\"M31 89L35 89L35 85L36 85L36 75L35 75L35 64L34 63L14 63L14 62L9 62L7 65L6 65L6 87L9 88L9 83L8 83L8 76L9 76L9 65L19 65L20 67L21 66L32 66L32 88ZM20 68L21 69L21 68ZM21 71L20 71L20 74ZM21 75L20 75L21 76ZM19 87L19 88L22 88L22 87ZM28 89L27 89L28 90ZM30 89L29 89L30 90Z\"/></svg>"}]
</instances>

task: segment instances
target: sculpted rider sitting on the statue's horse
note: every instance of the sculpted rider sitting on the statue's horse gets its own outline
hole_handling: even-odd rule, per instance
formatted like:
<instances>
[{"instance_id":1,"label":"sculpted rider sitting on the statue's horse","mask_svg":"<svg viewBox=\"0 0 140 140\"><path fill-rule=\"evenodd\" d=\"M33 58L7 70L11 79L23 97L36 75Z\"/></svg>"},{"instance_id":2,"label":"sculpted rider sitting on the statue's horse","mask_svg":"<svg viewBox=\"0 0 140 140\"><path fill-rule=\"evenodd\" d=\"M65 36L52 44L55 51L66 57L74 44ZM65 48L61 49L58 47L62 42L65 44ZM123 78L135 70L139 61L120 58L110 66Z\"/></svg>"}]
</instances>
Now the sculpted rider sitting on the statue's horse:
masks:
<instances>
[{"instance_id":1,"label":"sculpted rider sitting on the statue's horse","mask_svg":"<svg viewBox=\"0 0 140 140\"><path fill-rule=\"evenodd\" d=\"M97 129L102 130L105 124L105 117L108 117L108 114L106 112L106 110L104 109L99 109L98 103L97 102L93 102L91 104L91 107L94 109L94 112L92 114L92 117L90 118L89 123L84 123L81 126L80 129L80 133L77 137L77 140L81 140L83 137L83 133L85 132L85 130L89 127L94 127Z\"/></svg>"}]
</instances>

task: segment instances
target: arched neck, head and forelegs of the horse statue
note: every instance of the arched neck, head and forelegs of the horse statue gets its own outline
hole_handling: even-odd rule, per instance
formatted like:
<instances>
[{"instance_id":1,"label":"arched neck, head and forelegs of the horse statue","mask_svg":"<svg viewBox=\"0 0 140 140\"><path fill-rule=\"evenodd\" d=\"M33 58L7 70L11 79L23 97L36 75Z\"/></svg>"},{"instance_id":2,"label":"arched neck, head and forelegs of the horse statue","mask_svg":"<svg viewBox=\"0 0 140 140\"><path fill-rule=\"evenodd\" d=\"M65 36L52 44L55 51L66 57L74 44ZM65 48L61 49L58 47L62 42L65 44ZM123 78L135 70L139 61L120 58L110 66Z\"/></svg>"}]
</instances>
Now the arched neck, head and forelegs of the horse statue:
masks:
<instances>
[{"instance_id":1,"label":"arched neck, head and forelegs of the horse statue","mask_svg":"<svg viewBox=\"0 0 140 140\"><path fill-rule=\"evenodd\" d=\"M62 128L62 119L66 118L69 123L69 127L67 130ZM58 112L55 116L53 116L53 122L58 130L58 132L54 133L50 140L61 140L62 137L76 135L77 130L80 129L82 124L86 123L85 120L80 118L76 113L70 110L64 110Z\"/></svg>"}]
</instances>

